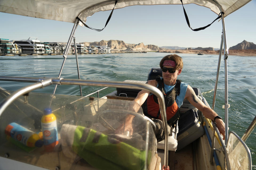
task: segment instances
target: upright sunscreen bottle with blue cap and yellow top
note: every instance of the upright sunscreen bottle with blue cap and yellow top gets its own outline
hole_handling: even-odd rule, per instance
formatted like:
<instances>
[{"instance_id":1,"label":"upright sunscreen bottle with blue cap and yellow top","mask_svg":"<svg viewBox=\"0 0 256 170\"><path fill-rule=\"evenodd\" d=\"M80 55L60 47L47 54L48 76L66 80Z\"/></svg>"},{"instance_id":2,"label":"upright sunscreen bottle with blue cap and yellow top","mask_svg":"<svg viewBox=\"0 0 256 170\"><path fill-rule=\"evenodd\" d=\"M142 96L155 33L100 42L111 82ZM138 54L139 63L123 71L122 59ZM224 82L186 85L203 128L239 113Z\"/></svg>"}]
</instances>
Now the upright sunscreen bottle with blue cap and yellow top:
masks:
<instances>
[{"instance_id":1,"label":"upright sunscreen bottle with blue cap and yellow top","mask_svg":"<svg viewBox=\"0 0 256 170\"><path fill-rule=\"evenodd\" d=\"M55 115L50 108L44 110L44 115L41 119L43 131L43 144L46 151L53 151L54 147L58 145L58 131Z\"/></svg>"}]
</instances>

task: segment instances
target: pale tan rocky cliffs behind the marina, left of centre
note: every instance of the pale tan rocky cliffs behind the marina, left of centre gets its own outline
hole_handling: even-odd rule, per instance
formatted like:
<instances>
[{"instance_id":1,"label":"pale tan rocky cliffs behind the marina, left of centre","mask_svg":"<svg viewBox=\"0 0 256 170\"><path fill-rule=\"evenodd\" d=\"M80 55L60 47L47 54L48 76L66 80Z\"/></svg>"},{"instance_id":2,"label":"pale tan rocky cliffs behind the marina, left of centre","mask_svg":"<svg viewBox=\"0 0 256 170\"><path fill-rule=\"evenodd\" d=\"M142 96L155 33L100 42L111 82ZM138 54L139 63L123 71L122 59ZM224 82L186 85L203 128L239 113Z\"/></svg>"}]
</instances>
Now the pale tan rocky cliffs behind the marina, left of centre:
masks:
<instances>
[{"instance_id":1,"label":"pale tan rocky cliffs behind the marina, left of centre","mask_svg":"<svg viewBox=\"0 0 256 170\"><path fill-rule=\"evenodd\" d=\"M107 45L111 49L117 49L117 50L127 50L127 51L158 51L159 47L156 45L144 45L143 43L139 44L126 44L124 41L120 40L101 40L100 42L83 42L81 44L84 44L85 46L101 46L101 45Z\"/></svg>"}]
</instances>

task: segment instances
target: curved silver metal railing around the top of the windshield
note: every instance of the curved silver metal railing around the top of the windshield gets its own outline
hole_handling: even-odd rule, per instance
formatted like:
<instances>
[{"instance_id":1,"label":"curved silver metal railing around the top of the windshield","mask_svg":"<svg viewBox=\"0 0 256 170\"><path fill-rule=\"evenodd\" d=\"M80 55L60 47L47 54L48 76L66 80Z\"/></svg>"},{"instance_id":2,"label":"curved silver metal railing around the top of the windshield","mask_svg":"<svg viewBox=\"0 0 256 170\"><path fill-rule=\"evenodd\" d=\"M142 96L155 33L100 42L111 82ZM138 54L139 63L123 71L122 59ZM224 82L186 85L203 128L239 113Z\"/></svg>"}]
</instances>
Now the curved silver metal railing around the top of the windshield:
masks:
<instances>
[{"instance_id":1,"label":"curved silver metal railing around the top of the windshield","mask_svg":"<svg viewBox=\"0 0 256 170\"><path fill-rule=\"evenodd\" d=\"M0 77L4 81L22 81L31 82L29 86L23 87L11 95L7 96L0 103L0 116L3 111L18 97L25 95L38 88L44 88L51 84L59 85L83 85L83 86L101 86L101 87L118 87L118 88L132 88L136 90L147 90L157 96L160 107L160 114L163 120L164 131L167 131L167 118L165 111L165 102L162 92L149 84L132 83L132 82L117 82L117 81L95 81L95 80L78 80L78 79L64 79L64 78L29 78L29 77ZM168 135L165 134L165 154L164 167L168 167Z\"/></svg>"}]
</instances>

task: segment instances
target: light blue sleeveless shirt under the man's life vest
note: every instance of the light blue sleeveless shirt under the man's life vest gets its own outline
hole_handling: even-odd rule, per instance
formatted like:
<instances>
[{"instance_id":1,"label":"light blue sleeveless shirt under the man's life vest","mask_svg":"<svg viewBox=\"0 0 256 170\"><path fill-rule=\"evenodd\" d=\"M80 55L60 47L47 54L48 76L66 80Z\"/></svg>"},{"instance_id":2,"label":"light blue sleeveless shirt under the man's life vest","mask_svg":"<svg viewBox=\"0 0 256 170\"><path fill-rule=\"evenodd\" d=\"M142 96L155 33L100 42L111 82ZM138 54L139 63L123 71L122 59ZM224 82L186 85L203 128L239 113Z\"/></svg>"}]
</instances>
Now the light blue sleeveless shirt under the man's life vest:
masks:
<instances>
[{"instance_id":1,"label":"light blue sleeveless shirt under the man's life vest","mask_svg":"<svg viewBox=\"0 0 256 170\"><path fill-rule=\"evenodd\" d=\"M162 77L161 77L161 80L162 80ZM176 85L176 83L175 83L175 85ZM175 86L174 85L174 86ZM186 95L186 92L187 92L187 83L183 83L183 82L181 82L181 89L180 89L180 94L179 94L179 96L177 96L176 97L176 103L177 103L177 105L178 105L178 107L180 108L181 107L181 105L183 104L183 100L184 100L184 97L185 97L185 95ZM169 93L171 90L173 90L173 88L174 88L174 86L168 86L168 85L166 85L165 83L164 83L164 88L163 88L163 91L167 94L167 93ZM157 84L157 87L158 87L158 84Z\"/></svg>"}]
</instances>

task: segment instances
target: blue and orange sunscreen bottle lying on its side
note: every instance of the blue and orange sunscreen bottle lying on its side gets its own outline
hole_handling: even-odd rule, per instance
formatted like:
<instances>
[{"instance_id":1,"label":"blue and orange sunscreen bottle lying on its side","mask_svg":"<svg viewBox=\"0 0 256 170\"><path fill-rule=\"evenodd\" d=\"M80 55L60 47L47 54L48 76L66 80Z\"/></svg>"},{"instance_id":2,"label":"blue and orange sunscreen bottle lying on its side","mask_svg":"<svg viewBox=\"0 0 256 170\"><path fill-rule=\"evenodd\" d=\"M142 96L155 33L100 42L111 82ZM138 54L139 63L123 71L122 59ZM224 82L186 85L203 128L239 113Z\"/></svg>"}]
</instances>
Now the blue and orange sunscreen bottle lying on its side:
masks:
<instances>
[{"instance_id":1,"label":"blue and orange sunscreen bottle lying on its side","mask_svg":"<svg viewBox=\"0 0 256 170\"><path fill-rule=\"evenodd\" d=\"M38 134L14 122L6 126L5 134L28 147L43 146L43 141Z\"/></svg>"}]
</instances>

